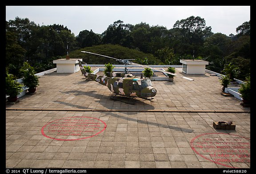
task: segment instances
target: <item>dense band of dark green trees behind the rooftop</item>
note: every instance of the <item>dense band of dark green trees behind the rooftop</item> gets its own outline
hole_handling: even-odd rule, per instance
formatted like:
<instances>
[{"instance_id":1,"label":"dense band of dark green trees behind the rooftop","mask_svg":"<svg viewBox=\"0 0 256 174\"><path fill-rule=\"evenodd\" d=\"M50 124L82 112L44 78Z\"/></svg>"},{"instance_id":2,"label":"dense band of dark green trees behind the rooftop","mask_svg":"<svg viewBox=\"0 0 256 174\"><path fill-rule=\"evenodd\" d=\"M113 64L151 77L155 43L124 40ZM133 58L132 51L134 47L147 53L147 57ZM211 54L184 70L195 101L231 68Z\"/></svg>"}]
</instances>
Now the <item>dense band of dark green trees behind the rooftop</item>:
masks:
<instances>
[{"instance_id":1,"label":"dense band of dark green trees behind the rooftop","mask_svg":"<svg viewBox=\"0 0 256 174\"><path fill-rule=\"evenodd\" d=\"M209 62L206 68L217 73L232 62L241 69L237 77L244 80L250 73L250 21L236 28L237 35L214 34L211 30L204 18L190 16L177 20L171 29L117 20L102 34L84 30L75 36L60 24L40 26L28 18L16 17L6 21L6 67L16 77L20 77L17 70L24 61L35 67L36 72L52 69L56 67L52 59L66 57L68 46L70 58L83 58L90 64L120 62L84 54L81 50L118 59L136 59L135 63L148 65L179 65L180 59L201 57ZM236 61L240 58L245 64Z\"/></svg>"}]
</instances>

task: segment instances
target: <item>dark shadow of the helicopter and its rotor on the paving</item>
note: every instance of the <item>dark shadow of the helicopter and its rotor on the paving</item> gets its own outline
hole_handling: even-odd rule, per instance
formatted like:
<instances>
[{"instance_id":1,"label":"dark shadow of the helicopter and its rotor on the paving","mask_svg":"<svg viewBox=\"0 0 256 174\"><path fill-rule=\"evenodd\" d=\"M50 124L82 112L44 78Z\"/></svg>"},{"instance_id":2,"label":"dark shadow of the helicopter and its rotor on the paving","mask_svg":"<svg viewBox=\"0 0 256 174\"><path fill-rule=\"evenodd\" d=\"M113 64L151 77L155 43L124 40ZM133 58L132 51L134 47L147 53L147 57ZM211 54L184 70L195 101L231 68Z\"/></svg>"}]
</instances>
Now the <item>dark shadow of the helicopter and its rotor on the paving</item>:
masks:
<instances>
[{"instance_id":1,"label":"dark shadow of the helicopter and its rotor on the paving","mask_svg":"<svg viewBox=\"0 0 256 174\"><path fill-rule=\"evenodd\" d=\"M99 94L99 93L96 93L96 91L88 91L88 92L83 92L83 91L79 91L79 90L71 90L71 91L66 91L66 92L61 92L61 93L66 93L66 94L73 94L75 96L80 96L80 95L87 95L89 97L95 97L96 99L107 99L107 100L110 100L109 99L109 96L106 96L106 95L102 95L102 94ZM59 104L64 104L64 105L67 105L67 106L70 106L72 108L80 108L80 109L92 109L92 108L89 108L89 107L85 107L85 106L82 106L82 105L78 105L78 104L72 104L72 103L67 103L65 101L54 101L56 103L59 103ZM107 101L109 102L109 101ZM120 101L113 101L113 102L120 102ZM145 104L143 101L138 101L139 104ZM99 101L99 104L100 104L100 101ZM102 104L104 104L104 106L108 109L113 109L112 105L109 105L109 104L106 104L105 102L102 102ZM122 102L120 102L120 104L123 104ZM125 104L125 103L124 103ZM129 104L128 104L129 105ZM146 106L148 106L148 110L153 110L154 107L151 106L150 104L146 104ZM132 110L132 109L131 109ZM137 122L137 123L140 123L140 124L148 124L148 125L153 125L153 126L156 126L156 127L160 127L160 128L169 128L169 129L173 129L173 130L176 130L176 131L184 131L184 132L187 132L187 133L192 133L194 130L192 129L187 129L187 128L180 128L180 127L176 127L176 126L170 126L168 124L159 124L159 123L156 123L156 122L152 122L152 121L148 121L148 120L138 120L137 118L132 118L132 117L129 117L129 115L136 115L137 112L140 112L140 111L136 111L136 112L128 112L128 116L122 116L121 113L124 113L122 111L118 112L120 114L117 114L116 112L109 112L108 114L110 116L114 116L114 117L117 117L117 118L121 118L121 119L124 119L124 120L128 120L128 121L134 121L134 122Z\"/></svg>"}]
</instances>

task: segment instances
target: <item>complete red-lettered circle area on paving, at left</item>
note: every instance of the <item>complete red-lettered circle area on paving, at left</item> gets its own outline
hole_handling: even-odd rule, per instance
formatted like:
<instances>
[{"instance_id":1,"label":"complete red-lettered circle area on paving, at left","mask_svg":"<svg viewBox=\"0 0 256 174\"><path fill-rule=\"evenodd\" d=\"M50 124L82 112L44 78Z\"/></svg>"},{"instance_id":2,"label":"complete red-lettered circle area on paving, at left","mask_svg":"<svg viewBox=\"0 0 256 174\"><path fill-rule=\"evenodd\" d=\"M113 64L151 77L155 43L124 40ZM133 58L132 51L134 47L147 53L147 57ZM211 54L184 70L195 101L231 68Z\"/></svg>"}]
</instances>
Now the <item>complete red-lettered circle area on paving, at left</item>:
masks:
<instances>
[{"instance_id":1,"label":"complete red-lettered circle area on paving, at left","mask_svg":"<svg viewBox=\"0 0 256 174\"><path fill-rule=\"evenodd\" d=\"M107 124L98 118L73 116L45 124L41 133L49 139L72 141L96 136L103 132L106 127Z\"/></svg>"}]
</instances>

